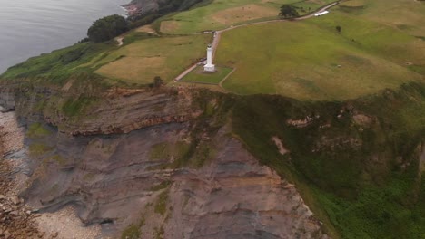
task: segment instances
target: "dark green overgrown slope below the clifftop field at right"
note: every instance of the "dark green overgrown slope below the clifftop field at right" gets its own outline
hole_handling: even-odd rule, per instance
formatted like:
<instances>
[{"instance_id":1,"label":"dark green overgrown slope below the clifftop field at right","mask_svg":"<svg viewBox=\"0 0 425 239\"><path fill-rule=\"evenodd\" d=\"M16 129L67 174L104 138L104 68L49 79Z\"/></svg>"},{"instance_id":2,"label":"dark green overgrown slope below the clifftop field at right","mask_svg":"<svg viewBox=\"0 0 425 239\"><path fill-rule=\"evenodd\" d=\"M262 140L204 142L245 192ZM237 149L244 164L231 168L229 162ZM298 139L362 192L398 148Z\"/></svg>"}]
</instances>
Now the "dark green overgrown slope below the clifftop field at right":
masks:
<instances>
[{"instance_id":1,"label":"dark green overgrown slope below the clifftop field at right","mask_svg":"<svg viewBox=\"0 0 425 239\"><path fill-rule=\"evenodd\" d=\"M297 183L332 237L423 238L424 102L423 84L343 103L257 95L236 101L232 126L263 164ZM356 123L359 113L371 124ZM316 115L304 128L285 123Z\"/></svg>"}]
</instances>

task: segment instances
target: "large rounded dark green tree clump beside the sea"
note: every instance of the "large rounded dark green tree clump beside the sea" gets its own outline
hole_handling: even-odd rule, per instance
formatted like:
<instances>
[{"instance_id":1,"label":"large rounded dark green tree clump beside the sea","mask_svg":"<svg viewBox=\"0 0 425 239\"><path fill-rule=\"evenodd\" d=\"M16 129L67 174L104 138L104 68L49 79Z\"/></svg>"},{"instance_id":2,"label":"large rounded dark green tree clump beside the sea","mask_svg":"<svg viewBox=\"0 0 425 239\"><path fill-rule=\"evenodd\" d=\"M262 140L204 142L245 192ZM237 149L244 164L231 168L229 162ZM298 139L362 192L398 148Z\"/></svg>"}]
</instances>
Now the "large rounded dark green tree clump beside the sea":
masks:
<instances>
[{"instance_id":1,"label":"large rounded dark green tree clump beside the sea","mask_svg":"<svg viewBox=\"0 0 425 239\"><path fill-rule=\"evenodd\" d=\"M87 31L87 36L94 43L102 43L128 31L125 18L121 15L109 15L96 20Z\"/></svg>"}]
</instances>

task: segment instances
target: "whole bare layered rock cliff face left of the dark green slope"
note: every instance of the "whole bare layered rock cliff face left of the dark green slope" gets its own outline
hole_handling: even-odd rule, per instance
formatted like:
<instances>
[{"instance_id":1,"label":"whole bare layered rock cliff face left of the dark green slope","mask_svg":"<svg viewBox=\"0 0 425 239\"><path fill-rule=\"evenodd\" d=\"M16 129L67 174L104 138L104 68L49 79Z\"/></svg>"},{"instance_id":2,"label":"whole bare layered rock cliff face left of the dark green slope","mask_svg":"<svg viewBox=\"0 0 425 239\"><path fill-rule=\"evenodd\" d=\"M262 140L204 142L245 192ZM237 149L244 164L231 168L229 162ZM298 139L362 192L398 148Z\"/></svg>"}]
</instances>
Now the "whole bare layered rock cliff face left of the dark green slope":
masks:
<instances>
[{"instance_id":1,"label":"whole bare layered rock cliff face left of the dark green slope","mask_svg":"<svg viewBox=\"0 0 425 239\"><path fill-rule=\"evenodd\" d=\"M212 115L220 95L205 103L198 91L88 89L71 81L0 92L15 95L27 125L21 196L40 213L73 205L114 236L327 237L296 188ZM67 110L80 99L90 99L83 114Z\"/></svg>"}]
</instances>

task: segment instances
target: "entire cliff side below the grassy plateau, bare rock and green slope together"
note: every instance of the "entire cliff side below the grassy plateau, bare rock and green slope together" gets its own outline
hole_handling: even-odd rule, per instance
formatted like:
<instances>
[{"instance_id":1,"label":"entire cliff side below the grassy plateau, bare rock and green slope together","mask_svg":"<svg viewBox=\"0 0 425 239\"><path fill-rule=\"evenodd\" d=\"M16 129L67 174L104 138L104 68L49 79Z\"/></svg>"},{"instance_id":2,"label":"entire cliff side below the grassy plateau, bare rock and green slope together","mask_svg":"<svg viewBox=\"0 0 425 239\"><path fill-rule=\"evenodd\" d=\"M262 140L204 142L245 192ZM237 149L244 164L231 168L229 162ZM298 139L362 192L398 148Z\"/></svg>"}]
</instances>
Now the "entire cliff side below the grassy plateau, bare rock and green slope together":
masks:
<instances>
[{"instance_id":1,"label":"entire cliff side below the grassy plateau, bare rock and green slope together","mask_svg":"<svg viewBox=\"0 0 425 239\"><path fill-rule=\"evenodd\" d=\"M42 213L73 205L136 238L326 238L321 222L335 238L425 232L420 83L344 102L1 89L27 127L21 196Z\"/></svg>"}]
</instances>

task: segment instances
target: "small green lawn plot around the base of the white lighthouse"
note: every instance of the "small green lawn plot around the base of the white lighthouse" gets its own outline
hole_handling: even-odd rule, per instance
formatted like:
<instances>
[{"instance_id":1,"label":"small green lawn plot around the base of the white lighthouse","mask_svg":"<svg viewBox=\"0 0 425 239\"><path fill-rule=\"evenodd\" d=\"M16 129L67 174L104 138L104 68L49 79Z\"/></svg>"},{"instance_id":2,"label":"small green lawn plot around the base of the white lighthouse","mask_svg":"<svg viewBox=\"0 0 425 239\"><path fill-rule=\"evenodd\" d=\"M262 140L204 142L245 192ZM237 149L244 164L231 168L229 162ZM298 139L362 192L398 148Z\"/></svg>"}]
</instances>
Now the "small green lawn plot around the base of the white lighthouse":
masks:
<instances>
[{"instance_id":1,"label":"small green lawn plot around the base of the white lighthouse","mask_svg":"<svg viewBox=\"0 0 425 239\"><path fill-rule=\"evenodd\" d=\"M181 81L218 84L233 70L227 67L215 67L215 69L216 72L213 73L203 72L203 66L198 66L192 72L185 75Z\"/></svg>"}]
</instances>

